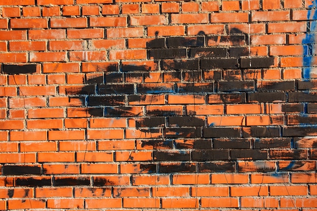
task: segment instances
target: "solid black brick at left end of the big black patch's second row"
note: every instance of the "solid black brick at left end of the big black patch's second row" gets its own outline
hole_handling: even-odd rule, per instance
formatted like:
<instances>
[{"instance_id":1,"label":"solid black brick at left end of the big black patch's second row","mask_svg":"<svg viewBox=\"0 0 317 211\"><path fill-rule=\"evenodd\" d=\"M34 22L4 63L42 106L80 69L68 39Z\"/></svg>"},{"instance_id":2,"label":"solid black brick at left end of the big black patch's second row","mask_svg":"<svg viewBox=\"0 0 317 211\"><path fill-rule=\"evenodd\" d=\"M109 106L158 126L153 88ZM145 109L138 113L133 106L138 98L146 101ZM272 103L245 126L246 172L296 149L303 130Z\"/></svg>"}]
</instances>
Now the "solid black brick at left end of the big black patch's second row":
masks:
<instances>
[{"instance_id":1,"label":"solid black brick at left end of the big black patch's second row","mask_svg":"<svg viewBox=\"0 0 317 211\"><path fill-rule=\"evenodd\" d=\"M148 52L153 59L186 58L186 49L153 49Z\"/></svg>"}]
</instances>

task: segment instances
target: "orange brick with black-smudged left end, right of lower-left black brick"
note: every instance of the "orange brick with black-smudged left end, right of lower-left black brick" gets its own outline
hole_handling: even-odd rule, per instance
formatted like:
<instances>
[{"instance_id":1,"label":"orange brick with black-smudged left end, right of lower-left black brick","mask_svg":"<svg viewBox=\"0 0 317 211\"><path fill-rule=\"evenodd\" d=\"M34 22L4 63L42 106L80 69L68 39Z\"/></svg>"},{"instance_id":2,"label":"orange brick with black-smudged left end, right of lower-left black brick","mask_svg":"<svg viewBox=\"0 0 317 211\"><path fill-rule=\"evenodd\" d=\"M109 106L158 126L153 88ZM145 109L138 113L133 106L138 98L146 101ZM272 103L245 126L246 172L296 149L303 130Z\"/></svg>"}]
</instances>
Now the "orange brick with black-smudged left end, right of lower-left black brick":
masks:
<instances>
[{"instance_id":1,"label":"orange brick with black-smudged left end, right of lower-left black brick","mask_svg":"<svg viewBox=\"0 0 317 211\"><path fill-rule=\"evenodd\" d=\"M80 164L43 164L43 172L47 175L80 174Z\"/></svg>"}]
</instances>

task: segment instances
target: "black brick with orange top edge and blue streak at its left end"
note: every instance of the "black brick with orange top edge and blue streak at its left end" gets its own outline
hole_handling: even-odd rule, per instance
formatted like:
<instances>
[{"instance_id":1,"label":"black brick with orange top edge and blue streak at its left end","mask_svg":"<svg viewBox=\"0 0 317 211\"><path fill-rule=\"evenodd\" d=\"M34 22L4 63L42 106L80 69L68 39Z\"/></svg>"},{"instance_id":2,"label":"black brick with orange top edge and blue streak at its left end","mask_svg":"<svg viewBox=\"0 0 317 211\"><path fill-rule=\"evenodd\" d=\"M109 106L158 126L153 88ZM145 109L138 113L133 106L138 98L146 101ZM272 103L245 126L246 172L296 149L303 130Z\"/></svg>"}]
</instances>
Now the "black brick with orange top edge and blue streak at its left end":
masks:
<instances>
[{"instance_id":1,"label":"black brick with orange top edge and blue streak at its left end","mask_svg":"<svg viewBox=\"0 0 317 211\"><path fill-rule=\"evenodd\" d=\"M214 92L214 83L177 83L178 93Z\"/></svg>"}]
</instances>

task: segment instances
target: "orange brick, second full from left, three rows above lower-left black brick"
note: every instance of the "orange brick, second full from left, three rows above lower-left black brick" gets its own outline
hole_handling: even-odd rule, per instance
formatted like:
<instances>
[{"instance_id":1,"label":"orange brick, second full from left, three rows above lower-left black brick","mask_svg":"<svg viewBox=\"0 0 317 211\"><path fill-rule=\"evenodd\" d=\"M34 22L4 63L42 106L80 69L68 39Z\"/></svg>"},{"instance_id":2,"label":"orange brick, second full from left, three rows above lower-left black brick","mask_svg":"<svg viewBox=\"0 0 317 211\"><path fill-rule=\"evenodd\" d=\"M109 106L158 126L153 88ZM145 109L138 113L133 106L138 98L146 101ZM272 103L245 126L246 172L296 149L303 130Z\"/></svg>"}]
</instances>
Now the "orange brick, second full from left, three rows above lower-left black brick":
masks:
<instances>
[{"instance_id":1,"label":"orange brick, second full from left, three rows above lower-left black brick","mask_svg":"<svg viewBox=\"0 0 317 211\"><path fill-rule=\"evenodd\" d=\"M49 131L49 140L84 140L85 131Z\"/></svg>"}]
</instances>

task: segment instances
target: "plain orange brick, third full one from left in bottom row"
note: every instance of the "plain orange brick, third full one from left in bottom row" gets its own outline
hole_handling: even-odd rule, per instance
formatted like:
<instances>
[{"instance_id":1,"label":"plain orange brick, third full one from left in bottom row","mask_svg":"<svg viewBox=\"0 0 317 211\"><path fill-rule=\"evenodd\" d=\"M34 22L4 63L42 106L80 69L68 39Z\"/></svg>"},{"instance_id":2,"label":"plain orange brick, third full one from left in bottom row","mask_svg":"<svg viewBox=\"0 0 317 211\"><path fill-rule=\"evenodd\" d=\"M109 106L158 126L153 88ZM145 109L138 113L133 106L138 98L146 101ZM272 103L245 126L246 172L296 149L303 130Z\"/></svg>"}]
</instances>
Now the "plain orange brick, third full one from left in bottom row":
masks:
<instances>
[{"instance_id":1,"label":"plain orange brick, third full one from left in bottom row","mask_svg":"<svg viewBox=\"0 0 317 211\"><path fill-rule=\"evenodd\" d=\"M120 208L122 207L121 198L96 198L85 199L85 208Z\"/></svg>"}]
</instances>

